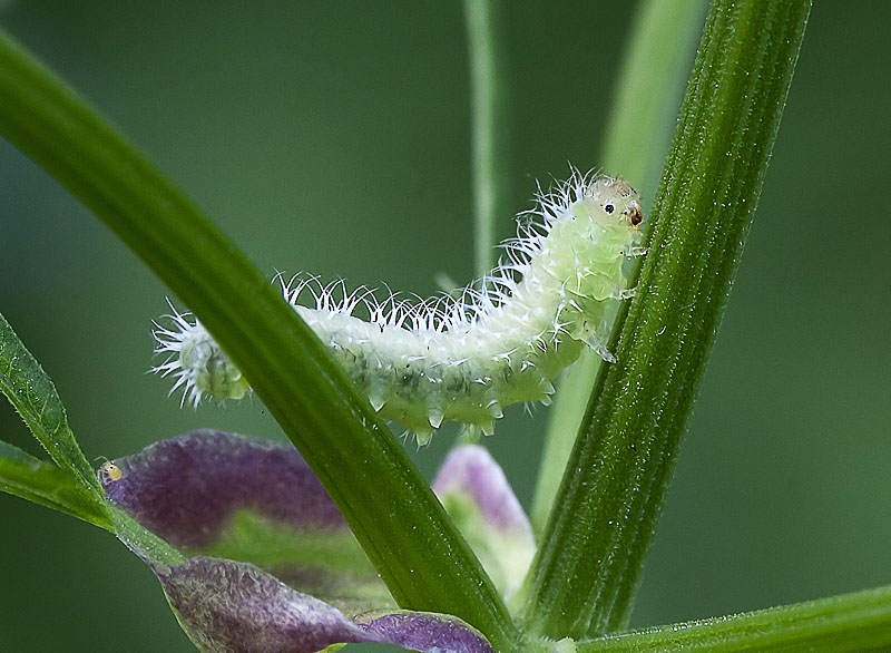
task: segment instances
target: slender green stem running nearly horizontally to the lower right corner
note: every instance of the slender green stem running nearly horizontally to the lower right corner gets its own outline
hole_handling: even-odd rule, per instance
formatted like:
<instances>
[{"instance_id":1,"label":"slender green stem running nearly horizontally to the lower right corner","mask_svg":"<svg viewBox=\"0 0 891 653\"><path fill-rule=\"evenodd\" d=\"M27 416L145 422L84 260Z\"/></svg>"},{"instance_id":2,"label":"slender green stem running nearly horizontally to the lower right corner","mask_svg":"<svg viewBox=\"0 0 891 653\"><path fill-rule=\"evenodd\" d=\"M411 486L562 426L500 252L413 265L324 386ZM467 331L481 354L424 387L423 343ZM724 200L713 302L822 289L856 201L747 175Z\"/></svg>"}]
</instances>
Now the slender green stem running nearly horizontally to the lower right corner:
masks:
<instances>
[{"instance_id":1,"label":"slender green stem running nearly horizontally to the lower right corner","mask_svg":"<svg viewBox=\"0 0 891 653\"><path fill-rule=\"evenodd\" d=\"M866 653L891 650L891 587L579 642L579 653Z\"/></svg>"}]
</instances>

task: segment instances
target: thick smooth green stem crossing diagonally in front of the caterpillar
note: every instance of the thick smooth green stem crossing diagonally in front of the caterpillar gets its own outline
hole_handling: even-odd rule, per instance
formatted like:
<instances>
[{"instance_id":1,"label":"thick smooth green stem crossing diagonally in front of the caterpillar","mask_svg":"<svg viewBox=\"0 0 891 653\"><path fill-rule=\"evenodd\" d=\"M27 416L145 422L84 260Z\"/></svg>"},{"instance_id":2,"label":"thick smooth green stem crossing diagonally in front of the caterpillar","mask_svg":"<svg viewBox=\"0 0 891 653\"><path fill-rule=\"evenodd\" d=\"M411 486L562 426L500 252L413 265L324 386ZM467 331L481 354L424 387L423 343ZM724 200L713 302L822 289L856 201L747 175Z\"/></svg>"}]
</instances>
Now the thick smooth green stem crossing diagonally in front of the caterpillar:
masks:
<instances>
[{"instance_id":1,"label":"thick smooth green stem crossing diagonally in front of the caterpillar","mask_svg":"<svg viewBox=\"0 0 891 653\"><path fill-rule=\"evenodd\" d=\"M349 522L396 601L516 628L388 428L235 245L99 115L0 33L0 131L105 222L232 357Z\"/></svg>"}]
</instances>

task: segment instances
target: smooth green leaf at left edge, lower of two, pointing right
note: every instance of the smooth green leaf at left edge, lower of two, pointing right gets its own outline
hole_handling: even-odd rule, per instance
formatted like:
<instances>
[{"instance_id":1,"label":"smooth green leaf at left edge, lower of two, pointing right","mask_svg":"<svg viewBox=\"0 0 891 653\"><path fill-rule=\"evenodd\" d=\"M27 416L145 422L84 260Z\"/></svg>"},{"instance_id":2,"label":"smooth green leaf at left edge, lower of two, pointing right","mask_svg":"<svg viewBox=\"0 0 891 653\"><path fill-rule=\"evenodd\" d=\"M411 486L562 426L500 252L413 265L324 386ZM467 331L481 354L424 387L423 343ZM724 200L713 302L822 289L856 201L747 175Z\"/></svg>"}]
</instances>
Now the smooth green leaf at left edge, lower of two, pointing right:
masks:
<instances>
[{"instance_id":1,"label":"smooth green leaf at left edge, lower of two, pointing right","mask_svg":"<svg viewBox=\"0 0 891 653\"><path fill-rule=\"evenodd\" d=\"M0 441L0 490L112 530L105 503L69 471Z\"/></svg>"}]
</instances>

